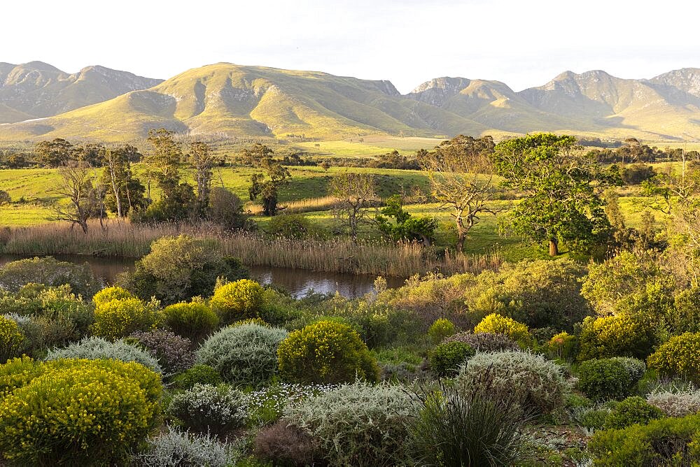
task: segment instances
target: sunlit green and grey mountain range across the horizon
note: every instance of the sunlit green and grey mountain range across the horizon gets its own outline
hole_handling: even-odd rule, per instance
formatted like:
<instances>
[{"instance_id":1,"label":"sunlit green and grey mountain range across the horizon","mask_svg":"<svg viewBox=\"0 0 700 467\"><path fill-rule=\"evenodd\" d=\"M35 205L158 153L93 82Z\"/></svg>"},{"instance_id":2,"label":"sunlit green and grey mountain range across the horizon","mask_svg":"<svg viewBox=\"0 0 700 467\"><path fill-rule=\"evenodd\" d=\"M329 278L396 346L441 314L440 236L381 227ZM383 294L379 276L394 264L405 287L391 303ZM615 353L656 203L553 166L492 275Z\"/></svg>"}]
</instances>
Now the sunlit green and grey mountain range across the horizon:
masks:
<instances>
[{"instance_id":1,"label":"sunlit green and grey mountain range across the horizon","mask_svg":"<svg viewBox=\"0 0 700 467\"><path fill-rule=\"evenodd\" d=\"M219 63L168 80L88 66L0 63L0 139L130 141L166 127L204 138L533 131L652 141L700 134L700 69L632 80L566 71L514 92L500 81L435 78L401 94L389 81Z\"/></svg>"}]
</instances>

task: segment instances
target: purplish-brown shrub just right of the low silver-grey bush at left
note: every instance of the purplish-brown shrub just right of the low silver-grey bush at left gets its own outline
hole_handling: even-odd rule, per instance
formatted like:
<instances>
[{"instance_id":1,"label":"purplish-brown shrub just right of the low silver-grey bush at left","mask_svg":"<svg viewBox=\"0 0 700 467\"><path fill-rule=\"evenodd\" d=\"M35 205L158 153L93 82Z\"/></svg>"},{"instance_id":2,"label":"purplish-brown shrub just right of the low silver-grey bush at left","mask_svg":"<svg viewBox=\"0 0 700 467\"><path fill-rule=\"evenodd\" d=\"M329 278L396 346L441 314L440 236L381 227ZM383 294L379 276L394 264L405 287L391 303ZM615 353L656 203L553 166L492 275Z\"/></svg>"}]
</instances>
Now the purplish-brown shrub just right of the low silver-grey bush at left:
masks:
<instances>
[{"instance_id":1,"label":"purplish-brown shrub just right of the low silver-grey bush at left","mask_svg":"<svg viewBox=\"0 0 700 467\"><path fill-rule=\"evenodd\" d=\"M195 353L189 339L182 338L170 331L157 329L155 331L132 333L130 338L136 340L153 357L158 359L160 368L166 374L181 373L195 364Z\"/></svg>"}]
</instances>

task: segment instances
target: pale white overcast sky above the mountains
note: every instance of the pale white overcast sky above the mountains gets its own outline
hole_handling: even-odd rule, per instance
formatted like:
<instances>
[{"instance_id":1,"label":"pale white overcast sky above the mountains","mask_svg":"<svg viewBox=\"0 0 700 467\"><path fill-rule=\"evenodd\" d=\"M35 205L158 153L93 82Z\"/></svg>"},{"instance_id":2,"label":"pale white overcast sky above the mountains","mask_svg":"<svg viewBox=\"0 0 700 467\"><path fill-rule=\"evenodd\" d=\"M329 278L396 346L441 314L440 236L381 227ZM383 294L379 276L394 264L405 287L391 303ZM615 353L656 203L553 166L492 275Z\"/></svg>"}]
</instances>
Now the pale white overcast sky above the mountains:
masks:
<instances>
[{"instance_id":1,"label":"pale white overcast sky above the mountains","mask_svg":"<svg viewBox=\"0 0 700 467\"><path fill-rule=\"evenodd\" d=\"M391 80L402 93L440 76L519 91L566 70L700 67L699 14L692 0L12 0L0 3L0 62L151 78L232 62Z\"/></svg>"}]
</instances>

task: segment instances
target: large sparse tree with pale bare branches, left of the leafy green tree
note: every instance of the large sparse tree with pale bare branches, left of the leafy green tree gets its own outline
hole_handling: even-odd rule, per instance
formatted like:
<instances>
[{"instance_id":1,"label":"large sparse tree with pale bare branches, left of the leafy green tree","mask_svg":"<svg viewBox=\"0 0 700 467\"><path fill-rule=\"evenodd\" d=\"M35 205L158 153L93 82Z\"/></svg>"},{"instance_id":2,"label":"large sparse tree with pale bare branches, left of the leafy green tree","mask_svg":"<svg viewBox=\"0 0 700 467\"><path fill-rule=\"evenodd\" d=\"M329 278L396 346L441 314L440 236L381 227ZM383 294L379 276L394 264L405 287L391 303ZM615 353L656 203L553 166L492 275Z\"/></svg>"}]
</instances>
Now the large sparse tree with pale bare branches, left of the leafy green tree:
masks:
<instances>
[{"instance_id":1,"label":"large sparse tree with pale bare branches, left of the leafy green tree","mask_svg":"<svg viewBox=\"0 0 700 467\"><path fill-rule=\"evenodd\" d=\"M457 247L463 250L468 232L484 214L496 214L489 206L493 196L491 136L459 135L443 141L433 151L417 153L428 173L433 196L441 208L450 208L457 226Z\"/></svg>"}]
</instances>

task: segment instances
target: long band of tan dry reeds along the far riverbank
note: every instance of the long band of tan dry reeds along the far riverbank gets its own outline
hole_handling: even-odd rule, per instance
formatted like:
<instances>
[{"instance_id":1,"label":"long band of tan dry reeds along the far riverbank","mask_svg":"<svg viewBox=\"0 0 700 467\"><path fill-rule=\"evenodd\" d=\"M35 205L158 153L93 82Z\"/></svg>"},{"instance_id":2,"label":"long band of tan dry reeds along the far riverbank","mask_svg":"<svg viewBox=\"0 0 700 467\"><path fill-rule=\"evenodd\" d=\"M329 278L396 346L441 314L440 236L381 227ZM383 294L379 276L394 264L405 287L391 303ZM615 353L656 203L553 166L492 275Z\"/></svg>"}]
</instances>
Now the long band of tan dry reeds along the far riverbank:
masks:
<instances>
[{"instance_id":1,"label":"long band of tan dry reeds along the far riverbank","mask_svg":"<svg viewBox=\"0 0 700 467\"><path fill-rule=\"evenodd\" d=\"M218 240L226 254L248 266L300 268L328 273L372 274L408 277L440 272L478 273L501 264L498 253L468 255L435 250L416 243L358 242L345 238L297 240L253 234L231 234L207 224L130 224L109 222L104 228L91 224L87 234L61 224L6 229L0 233L0 252L22 256L81 254L97 257L139 258L151 242L162 236L188 234Z\"/></svg>"}]
</instances>

